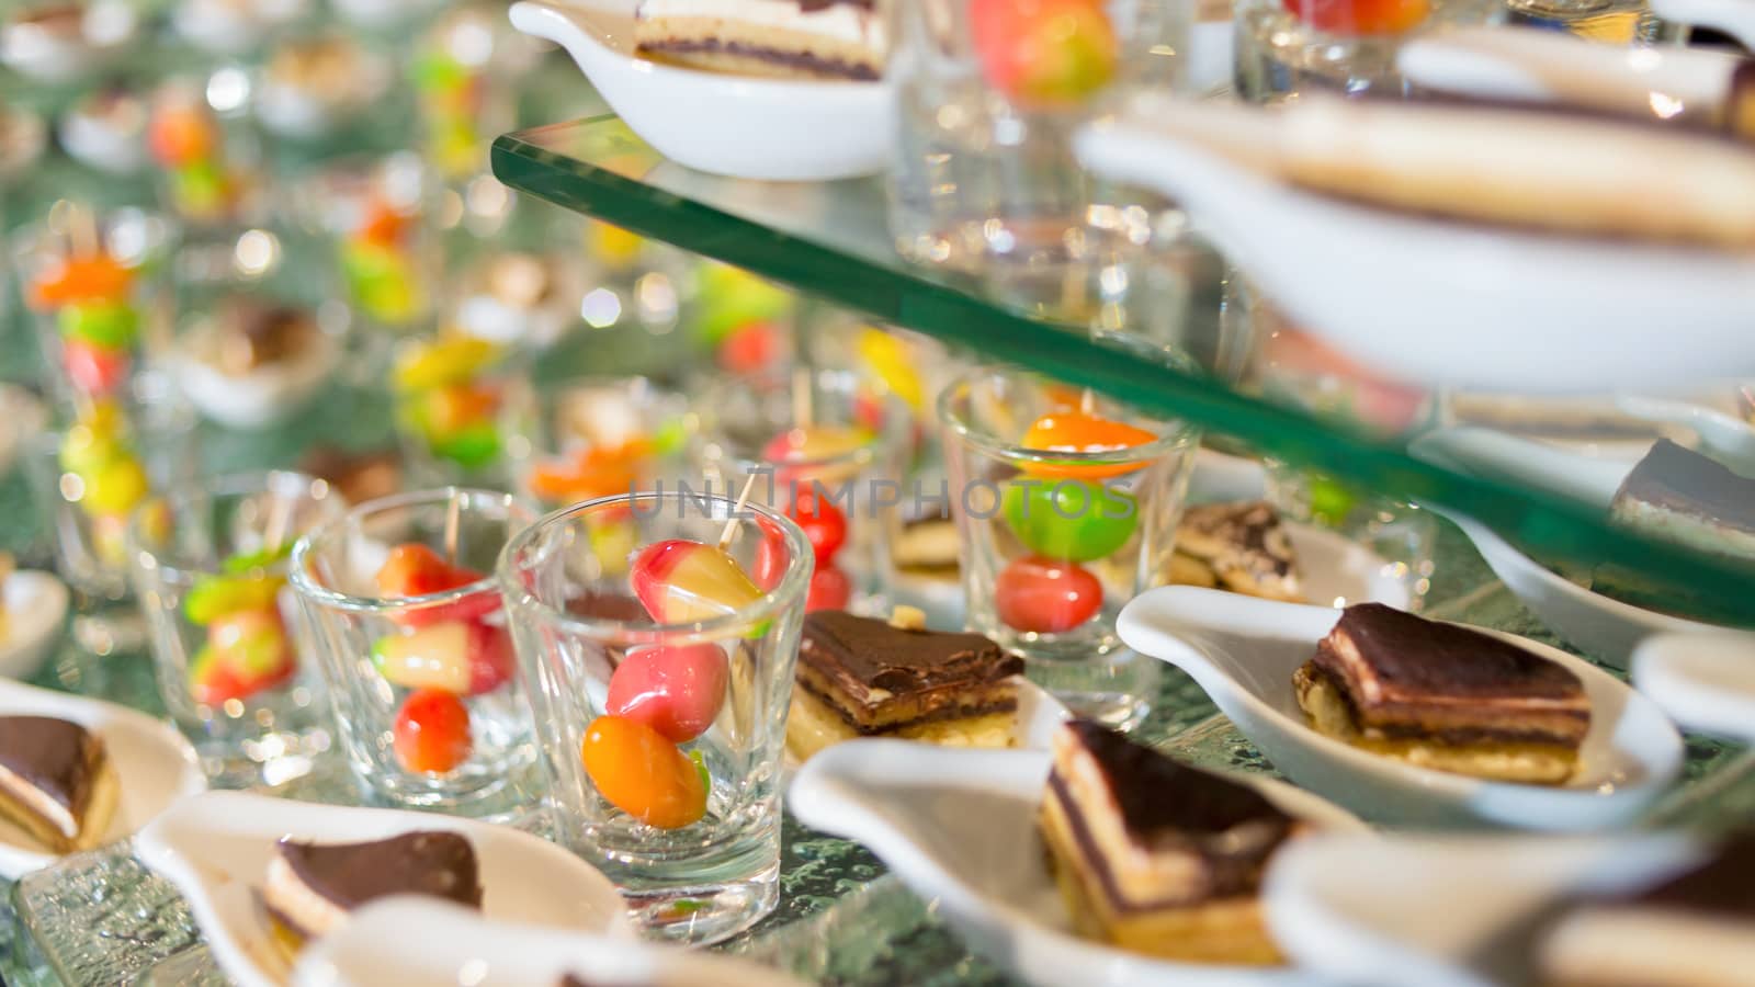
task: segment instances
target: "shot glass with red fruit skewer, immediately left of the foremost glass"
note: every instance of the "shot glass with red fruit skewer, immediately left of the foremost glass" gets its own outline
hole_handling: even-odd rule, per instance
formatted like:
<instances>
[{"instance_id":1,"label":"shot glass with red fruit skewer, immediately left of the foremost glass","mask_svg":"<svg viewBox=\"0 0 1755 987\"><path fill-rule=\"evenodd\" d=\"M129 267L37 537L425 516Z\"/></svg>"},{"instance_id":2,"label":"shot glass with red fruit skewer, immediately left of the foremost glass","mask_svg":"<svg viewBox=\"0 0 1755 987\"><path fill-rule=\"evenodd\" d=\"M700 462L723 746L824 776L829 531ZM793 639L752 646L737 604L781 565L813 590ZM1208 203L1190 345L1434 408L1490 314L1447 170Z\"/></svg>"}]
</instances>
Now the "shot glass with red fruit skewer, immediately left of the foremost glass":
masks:
<instances>
[{"instance_id":1,"label":"shot glass with red fruit skewer, immediately left of the foremost glass","mask_svg":"<svg viewBox=\"0 0 1755 987\"><path fill-rule=\"evenodd\" d=\"M335 727L377 799L500 815L535 762L530 708L491 578L535 520L511 494L418 490L360 504L293 546Z\"/></svg>"}]
</instances>

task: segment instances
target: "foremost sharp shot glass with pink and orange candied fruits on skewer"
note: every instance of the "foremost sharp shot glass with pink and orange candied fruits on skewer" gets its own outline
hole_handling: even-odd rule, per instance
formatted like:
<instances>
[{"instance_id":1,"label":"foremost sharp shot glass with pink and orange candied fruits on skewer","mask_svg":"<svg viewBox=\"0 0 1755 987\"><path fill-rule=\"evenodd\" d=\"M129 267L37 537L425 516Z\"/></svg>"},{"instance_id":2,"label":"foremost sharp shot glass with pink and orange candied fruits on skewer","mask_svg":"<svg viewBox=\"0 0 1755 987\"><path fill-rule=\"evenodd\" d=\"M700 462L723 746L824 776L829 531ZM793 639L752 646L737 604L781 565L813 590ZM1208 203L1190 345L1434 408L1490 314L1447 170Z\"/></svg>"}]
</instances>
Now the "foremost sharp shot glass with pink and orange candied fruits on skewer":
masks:
<instances>
[{"instance_id":1,"label":"foremost sharp shot glass with pink and orange candied fruits on skewer","mask_svg":"<svg viewBox=\"0 0 1755 987\"><path fill-rule=\"evenodd\" d=\"M598 550L616 525L642 546L632 562L620 541ZM648 936L720 941L777 901L811 560L777 511L677 492L558 511L500 557L556 834L623 889ZM651 620L653 602L676 620Z\"/></svg>"}]
</instances>

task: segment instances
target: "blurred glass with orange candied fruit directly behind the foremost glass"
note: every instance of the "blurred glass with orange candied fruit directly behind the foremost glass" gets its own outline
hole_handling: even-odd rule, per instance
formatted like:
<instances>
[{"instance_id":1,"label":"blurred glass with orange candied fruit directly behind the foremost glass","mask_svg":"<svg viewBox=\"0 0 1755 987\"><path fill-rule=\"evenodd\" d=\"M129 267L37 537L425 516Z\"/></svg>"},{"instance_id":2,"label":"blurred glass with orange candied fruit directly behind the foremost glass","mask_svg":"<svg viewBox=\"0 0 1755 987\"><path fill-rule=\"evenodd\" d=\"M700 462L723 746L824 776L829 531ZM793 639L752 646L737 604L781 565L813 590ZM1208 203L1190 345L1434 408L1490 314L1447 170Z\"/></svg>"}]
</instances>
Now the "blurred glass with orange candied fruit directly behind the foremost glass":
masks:
<instances>
[{"instance_id":1,"label":"blurred glass with orange candied fruit directly behind the foremost glass","mask_svg":"<svg viewBox=\"0 0 1755 987\"><path fill-rule=\"evenodd\" d=\"M514 388L505 425L512 488L556 509L674 483L693 421L684 395L648 378Z\"/></svg>"}]
</instances>

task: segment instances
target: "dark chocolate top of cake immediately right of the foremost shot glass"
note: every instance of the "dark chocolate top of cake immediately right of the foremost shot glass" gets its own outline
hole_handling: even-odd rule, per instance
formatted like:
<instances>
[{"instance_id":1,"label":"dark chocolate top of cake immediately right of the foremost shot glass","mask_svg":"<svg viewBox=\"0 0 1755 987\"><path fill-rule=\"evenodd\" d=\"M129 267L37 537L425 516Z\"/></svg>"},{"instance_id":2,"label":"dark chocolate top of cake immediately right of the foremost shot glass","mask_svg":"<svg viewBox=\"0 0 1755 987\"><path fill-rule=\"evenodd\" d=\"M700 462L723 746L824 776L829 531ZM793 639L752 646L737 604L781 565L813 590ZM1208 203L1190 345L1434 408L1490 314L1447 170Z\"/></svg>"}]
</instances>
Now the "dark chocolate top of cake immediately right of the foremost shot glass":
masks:
<instances>
[{"instance_id":1,"label":"dark chocolate top of cake immediately right of the foremost shot glass","mask_svg":"<svg viewBox=\"0 0 1755 987\"><path fill-rule=\"evenodd\" d=\"M1023 659L981 634L902 630L841 609L804 615L799 660L860 697L872 688L909 694L1023 671Z\"/></svg>"}]
</instances>

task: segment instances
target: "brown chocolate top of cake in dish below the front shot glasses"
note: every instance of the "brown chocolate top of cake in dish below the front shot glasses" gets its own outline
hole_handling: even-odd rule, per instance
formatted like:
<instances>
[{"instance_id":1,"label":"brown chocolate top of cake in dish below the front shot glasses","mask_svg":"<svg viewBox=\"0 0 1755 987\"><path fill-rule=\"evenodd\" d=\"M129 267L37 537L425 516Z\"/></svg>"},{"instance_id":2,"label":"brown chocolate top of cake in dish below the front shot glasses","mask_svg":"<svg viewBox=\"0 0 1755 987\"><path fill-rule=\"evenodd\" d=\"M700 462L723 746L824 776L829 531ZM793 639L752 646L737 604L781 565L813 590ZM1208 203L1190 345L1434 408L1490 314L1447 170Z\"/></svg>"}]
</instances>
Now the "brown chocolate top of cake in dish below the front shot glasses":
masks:
<instances>
[{"instance_id":1,"label":"brown chocolate top of cake in dish below the front shot glasses","mask_svg":"<svg viewBox=\"0 0 1755 987\"><path fill-rule=\"evenodd\" d=\"M332 845L283 839L279 852L298 880L340 908L390 894L426 894L481 908L476 850L456 832Z\"/></svg>"}]
</instances>

